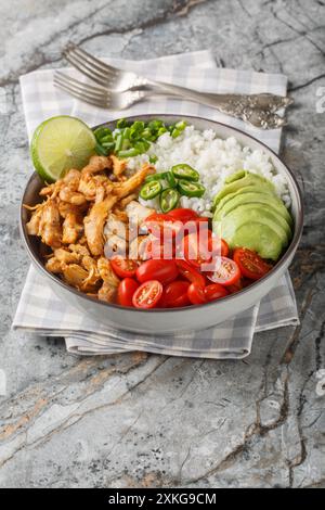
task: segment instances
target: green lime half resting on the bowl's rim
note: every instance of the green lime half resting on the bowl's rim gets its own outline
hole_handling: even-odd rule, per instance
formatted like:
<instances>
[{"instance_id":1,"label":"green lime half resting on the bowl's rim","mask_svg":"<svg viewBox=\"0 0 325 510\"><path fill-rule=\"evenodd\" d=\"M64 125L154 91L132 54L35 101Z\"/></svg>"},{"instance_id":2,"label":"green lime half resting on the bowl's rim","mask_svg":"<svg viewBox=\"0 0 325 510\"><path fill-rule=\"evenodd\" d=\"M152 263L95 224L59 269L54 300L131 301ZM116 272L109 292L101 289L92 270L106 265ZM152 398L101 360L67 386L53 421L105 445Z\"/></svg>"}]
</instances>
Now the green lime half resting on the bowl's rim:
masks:
<instances>
[{"instance_id":1,"label":"green lime half resting on the bowl's rim","mask_svg":"<svg viewBox=\"0 0 325 510\"><path fill-rule=\"evenodd\" d=\"M34 166L47 182L54 182L70 168L80 169L94 153L96 140L79 118L51 117L36 128L30 153Z\"/></svg>"}]
</instances>

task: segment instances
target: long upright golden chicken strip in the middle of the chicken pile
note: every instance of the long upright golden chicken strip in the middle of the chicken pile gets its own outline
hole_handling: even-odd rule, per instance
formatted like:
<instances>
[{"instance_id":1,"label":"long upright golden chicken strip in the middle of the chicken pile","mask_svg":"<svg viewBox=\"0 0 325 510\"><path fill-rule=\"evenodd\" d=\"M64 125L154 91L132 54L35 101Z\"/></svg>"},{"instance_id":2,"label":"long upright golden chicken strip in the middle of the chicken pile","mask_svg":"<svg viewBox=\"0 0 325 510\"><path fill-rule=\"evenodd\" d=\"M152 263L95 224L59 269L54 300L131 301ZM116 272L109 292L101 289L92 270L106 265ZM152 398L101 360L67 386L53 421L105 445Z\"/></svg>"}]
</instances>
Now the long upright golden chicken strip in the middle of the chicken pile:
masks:
<instances>
[{"instance_id":1,"label":"long upright golden chicken strip in the middle of the chicken pile","mask_svg":"<svg viewBox=\"0 0 325 510\"><path fill-rule=\"evenodd\" d=\"M114 204L118 201L115 195L107 196L103 202L94 204L83 219L84 234L92 255L99 256L104 252L104 224Z\"/></svg>"}]
</instances>

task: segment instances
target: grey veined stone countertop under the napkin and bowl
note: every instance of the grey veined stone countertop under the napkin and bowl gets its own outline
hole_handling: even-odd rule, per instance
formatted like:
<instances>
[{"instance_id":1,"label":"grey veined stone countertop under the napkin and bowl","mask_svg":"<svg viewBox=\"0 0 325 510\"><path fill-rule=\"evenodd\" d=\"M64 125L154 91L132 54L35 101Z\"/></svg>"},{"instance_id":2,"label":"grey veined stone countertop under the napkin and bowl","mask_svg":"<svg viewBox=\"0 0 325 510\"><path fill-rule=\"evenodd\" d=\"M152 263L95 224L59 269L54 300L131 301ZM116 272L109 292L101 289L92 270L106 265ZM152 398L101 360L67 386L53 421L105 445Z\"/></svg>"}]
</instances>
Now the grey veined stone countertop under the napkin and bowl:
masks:
<instances>
[{"instance_id":1,"label":"grey veined stone countertop under the napkin and bowl","mask_svg":"<svg viewBox=\"0 0 325 510\"><path fill-rule=\"evenodd\" d=\"M6 394L0 397L0 486L325 486L325 397L317 386L325 369L324 5L1 2L0 368ZM61 339L10 331L28 267L17 227L30 169L18 77L63 65L69 40L128 59L210 48L219 65L289 77L295 106L283 157L307 208L291 266L300 326L258 334L243 361L77 358Z\"/></svg>"}]
</instances>

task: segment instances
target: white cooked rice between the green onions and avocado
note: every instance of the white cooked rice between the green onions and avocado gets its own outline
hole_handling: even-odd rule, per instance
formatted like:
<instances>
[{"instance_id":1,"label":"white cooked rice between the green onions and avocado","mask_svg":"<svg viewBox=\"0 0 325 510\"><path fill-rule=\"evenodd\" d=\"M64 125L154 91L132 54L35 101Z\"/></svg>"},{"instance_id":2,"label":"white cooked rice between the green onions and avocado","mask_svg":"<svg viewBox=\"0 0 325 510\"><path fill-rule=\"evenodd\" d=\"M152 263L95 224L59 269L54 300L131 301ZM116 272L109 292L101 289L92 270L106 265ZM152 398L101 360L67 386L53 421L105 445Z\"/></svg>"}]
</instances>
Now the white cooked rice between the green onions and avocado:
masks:
<instances>
[{"instance_id":1,"label":"white cooked rice between the green onions and avocado","mask_svg":"<svg viewBox=\"0 0 325 510\"><path fill-rule=\"evenodd\" d=\"M186 163L200 175L206 192L200 199L182 196L180 206L191 207L199 215L211 216L213 197L222 189L225 179L237 170L246 169L271 180L276 193L289 207L290 195L284 176L276 174L269 156L260 150L242 146L236 138L218 138L211 129L199 131L187 126L183 133L173 139L169 132L161 135L146 154L129 160L131 170L148 162L150 155L157 156L155 167L158 173L169 170L173 165ZM157 200L142 201L143 205L159 209Z\"/></svg>"}]
</instances>

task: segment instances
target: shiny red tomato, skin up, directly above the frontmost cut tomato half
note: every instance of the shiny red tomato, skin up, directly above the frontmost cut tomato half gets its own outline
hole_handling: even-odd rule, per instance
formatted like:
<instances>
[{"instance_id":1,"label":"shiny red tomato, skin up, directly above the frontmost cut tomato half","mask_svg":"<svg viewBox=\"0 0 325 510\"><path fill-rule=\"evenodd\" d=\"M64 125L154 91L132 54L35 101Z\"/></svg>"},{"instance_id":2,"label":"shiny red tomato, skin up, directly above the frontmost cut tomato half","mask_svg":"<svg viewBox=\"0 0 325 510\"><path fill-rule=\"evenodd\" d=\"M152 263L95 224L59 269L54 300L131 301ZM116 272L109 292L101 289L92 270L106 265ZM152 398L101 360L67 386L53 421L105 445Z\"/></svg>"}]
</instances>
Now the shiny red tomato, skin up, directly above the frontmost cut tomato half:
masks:
<instances>
[{"instance_id":1,"label":"shiny red tomato, skin up, directly above the frontmost cut tomato half","mask_svg":"<svg viewBox=\"0 0 325 510\"><path fill-rule=\"evenodd\" d=\"M179 275L174 260L165 260L164 258L151 258L145 260L136 269L136 279L143 283L148 280L158 280L167 284L176 280Z\"/></svg>"}]
</instances>

